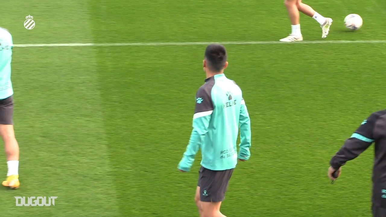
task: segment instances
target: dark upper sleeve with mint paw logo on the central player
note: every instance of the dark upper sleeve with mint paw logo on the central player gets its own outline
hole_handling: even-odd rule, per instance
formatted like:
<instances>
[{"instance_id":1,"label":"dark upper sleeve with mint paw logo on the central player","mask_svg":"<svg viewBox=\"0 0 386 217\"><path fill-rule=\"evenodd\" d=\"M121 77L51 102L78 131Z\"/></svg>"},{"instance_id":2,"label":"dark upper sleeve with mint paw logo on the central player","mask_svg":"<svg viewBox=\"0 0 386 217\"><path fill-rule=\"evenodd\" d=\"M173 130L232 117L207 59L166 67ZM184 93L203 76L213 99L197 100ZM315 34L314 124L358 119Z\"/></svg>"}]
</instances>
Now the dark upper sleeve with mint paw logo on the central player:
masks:
<instances>
[{"instance_id":1,"label":"dark upper sleeve with mint paw logo on the central player","mask_svg":"<svg viewBox=\"0 0 386 217\"><path fill-rule=\"evenodd\" d=\"M213 101L212 101L212 86L203 85L198 89L196 93L196 108L195 115L205 112L213 111Z\"/></svg>"}]
</instances>

